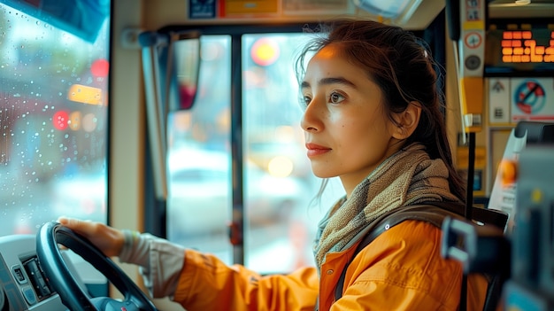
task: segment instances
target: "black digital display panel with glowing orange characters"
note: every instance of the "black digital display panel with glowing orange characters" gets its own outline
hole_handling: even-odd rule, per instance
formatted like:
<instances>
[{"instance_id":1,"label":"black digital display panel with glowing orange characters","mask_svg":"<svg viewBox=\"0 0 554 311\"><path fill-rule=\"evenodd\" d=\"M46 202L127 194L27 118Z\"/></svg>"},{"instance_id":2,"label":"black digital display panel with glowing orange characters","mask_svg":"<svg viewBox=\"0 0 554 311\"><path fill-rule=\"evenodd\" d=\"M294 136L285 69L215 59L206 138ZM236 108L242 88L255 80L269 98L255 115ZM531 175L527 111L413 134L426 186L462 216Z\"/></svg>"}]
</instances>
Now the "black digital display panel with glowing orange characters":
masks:
<instances>
[{"instance_id":1,"label":"black digital display panel with glowing orange characters","mask_svg":"<svg viewBox=\"0 0 554 311\"><path fill-rule=\"evenodd\" d=\"M491 24L485 74L553 74L554 24Z\"/></svg>"}]
</instances>

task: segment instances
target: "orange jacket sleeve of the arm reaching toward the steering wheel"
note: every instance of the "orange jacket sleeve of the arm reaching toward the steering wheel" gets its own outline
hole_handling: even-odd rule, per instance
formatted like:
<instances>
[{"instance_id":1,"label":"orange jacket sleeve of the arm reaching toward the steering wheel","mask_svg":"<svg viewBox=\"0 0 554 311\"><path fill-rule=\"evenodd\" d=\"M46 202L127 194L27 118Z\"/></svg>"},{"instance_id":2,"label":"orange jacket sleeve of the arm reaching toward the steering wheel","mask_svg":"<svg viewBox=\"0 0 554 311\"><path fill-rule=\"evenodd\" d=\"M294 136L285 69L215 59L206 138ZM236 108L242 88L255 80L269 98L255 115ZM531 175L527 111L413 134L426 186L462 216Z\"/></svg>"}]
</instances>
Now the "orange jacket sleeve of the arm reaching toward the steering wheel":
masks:
<instances>
[{"instance_id":1,"label":"orange jacket sleeve of the arm reaching toward the steering wheel","mask_svg":"<svg viewBox=\"0 0 554 311\"><path fill-rule=\"evenodd\" d=\"M288 275L260 276L241 265L187 250L173 299L188 311L310 310L318 295L315 268Z\"/></svg>"}]
</instances>

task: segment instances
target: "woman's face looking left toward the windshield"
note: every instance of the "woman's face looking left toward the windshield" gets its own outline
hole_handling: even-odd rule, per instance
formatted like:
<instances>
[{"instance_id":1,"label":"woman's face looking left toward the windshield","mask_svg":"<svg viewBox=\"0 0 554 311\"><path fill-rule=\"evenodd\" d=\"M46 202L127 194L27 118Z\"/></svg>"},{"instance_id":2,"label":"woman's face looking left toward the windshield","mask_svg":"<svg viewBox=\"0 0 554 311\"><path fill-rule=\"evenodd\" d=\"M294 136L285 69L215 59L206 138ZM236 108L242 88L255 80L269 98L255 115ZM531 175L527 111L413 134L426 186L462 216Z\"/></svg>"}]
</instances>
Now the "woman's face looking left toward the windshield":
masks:
<instances>
[{"instance_id":1,"label":"woman's face looking left toward the windshield","mask_svg":"<svg viewBox=\"0 0 554 311\"><path fill-rule=\"evenodd\" d=\"M312 171L321 178L339 176L350 195L399 149L381 89L333 45L310 60L301 88L307 105L302 128Z\"/></svg>"}]
</instances>

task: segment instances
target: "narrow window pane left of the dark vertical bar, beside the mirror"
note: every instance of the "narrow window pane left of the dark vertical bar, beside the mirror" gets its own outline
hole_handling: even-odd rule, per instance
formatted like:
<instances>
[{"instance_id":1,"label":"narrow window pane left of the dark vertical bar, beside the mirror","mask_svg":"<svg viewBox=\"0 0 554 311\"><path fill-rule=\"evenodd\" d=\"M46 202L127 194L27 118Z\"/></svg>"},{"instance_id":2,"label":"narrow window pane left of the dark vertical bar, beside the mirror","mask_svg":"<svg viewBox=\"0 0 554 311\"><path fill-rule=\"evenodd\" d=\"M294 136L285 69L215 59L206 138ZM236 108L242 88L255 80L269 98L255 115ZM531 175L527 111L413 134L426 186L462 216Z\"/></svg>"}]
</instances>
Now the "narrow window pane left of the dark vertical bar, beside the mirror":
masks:
<instances>
[{"instance_id":1,"label":"narrow window pane left of the dark vertical bar, beside the mirror","mask_svg":"<svg viewBox=\"0 0 554 311\"><path fill-rule=\"evenodd\" d=\"M201 46L195 105L168 117L167 238L231 262L231 37Z\"/></svg>"}]
</instances>

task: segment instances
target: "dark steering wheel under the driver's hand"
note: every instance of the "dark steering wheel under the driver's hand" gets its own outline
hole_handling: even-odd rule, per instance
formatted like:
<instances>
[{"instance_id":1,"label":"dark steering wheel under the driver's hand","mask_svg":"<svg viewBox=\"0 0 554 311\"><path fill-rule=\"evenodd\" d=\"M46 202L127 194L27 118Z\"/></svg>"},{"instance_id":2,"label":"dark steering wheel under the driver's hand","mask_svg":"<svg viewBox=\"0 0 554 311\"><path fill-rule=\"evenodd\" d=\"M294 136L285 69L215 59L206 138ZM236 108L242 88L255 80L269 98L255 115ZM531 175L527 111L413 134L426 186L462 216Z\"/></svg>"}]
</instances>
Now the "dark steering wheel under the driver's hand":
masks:
<instances>
[{"instance_id":1,"label":"dark steering wheel under the driver's hand","mask_svg":"<svg viewBox=\"0 0 554 311\"><path fill-rule=\"evenodd\" d=\"M122 301L108 297L90 298L72 276L62 258L58 244L81 255L124 295ZM157 311L150 299L110 258L104 255L87 238L62 226L47 222L37 233L36 254L50 285L58 292L62 303L72 311Z\"/></svg>"}]
</instances>

